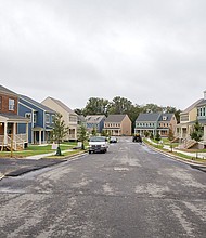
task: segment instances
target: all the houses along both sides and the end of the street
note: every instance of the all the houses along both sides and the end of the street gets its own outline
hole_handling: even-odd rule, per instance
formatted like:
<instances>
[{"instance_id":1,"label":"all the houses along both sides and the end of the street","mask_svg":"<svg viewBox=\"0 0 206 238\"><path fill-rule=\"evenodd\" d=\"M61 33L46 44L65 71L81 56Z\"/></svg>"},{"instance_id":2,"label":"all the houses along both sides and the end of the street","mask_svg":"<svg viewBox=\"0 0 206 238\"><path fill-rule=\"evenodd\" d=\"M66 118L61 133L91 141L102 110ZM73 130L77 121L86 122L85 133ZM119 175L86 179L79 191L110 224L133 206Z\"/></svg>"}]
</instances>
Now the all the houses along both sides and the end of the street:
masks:
<instances>
[{"instance_id":1,"label":"all the houses along both sides and the end of the street","mask_svg":"<svg viewBox=\"0 0 206 238\"><path fill-rule=\"evenodd\" d=\"M20 95L0 85L0 148L24 148L28 144L43 144L51 140L53 118L60 113L65 124L69 128L66 141L76 141L78 124L85 123L88 132L102 131L115 135L131 135L132 122L128 115L89 115L78 116L67 105L53 97L47 97L41 103ZM136 120L134 133L144 135L145 132L157 132L162 137L167 137L171 130L184 147L195 145L191 143L190 133L196 119L204 130L201 142L202 148L206 147L206 91L204 97L193 103L180 114L180 123L177 123L175 114L140 114Z\"/></svg>"}]
</instances>

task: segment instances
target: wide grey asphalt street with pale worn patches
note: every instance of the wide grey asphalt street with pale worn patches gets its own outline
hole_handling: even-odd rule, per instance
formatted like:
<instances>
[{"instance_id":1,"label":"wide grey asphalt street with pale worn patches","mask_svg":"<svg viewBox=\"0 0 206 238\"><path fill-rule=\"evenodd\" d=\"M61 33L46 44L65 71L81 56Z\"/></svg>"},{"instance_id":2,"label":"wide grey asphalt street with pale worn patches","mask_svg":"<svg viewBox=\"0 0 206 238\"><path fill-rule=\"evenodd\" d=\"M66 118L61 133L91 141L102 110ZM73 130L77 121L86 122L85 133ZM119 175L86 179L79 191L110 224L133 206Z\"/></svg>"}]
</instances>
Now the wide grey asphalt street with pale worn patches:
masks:
<instances>
[{"instance_id":1,"label":"wide grey asphalt street with pale worn patches","mask_svg":"<svg viewBox=\"0 0 206 238\"><path fill-rule=\"evenodd\" d=\"M120 138L0 181L0 237L195 237L206 234L206 174Z\"/></svg>"}]
</instances>

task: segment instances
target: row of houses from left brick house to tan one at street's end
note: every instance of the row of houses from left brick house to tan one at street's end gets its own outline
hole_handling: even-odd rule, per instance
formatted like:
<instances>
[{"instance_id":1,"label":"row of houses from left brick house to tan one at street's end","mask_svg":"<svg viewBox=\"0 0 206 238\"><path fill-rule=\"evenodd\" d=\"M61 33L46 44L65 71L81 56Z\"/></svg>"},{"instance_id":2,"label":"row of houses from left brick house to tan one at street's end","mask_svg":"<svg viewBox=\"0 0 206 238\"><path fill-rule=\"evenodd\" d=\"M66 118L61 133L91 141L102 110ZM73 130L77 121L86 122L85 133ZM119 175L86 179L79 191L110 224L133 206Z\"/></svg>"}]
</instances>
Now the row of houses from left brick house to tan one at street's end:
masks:
<instances>
[{"instance_id":1,"label":"row of houses from left brick house to tan one at street's end","mask_svg":"<svg viewBox=\"0 0 206 238\"><path fill-rule=\"evenodd\" d=\"M130 135L131 121L127 115L78 116L61 101L47 97L41 103L20 95L0 85L0 149L11 147L18 150L28 144L44 144L50 142L53 130L53 118L56 113L63 116L69 128L65 141L76 141L78 125L85 123L88 132L93 128L96 132L114 135Z\"/></svg>"}]
</instances>

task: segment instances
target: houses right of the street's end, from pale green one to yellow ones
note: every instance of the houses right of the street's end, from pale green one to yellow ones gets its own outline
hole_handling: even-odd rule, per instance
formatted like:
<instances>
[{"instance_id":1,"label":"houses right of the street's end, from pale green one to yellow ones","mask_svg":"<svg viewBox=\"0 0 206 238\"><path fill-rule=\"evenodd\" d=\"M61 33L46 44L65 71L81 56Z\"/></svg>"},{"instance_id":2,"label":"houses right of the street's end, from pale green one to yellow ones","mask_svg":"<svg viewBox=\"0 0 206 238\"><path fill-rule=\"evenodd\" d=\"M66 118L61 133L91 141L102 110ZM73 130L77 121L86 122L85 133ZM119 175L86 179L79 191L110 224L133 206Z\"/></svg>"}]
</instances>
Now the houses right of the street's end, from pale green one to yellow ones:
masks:
<instances>
[{"instance_id":1,"label":"houses right of the street's end, from pale green one to yellow ones","mask_svg":"<svg viewBox=\"0 0 206 238\"><path fill-rule=\"evenodd\" d=\"M199 143L191 138L191 132L196 120L203 129L203 137ZM173 133L175 141L179 142L180 148L206 148L206 91L203 98L197 100L186 109L180 113L180 123L177 123L173 114L140 114L136 120L134 133L144 135L145 132L162 137L168 137L169 130Z\"/></svg>"}]
</instances>

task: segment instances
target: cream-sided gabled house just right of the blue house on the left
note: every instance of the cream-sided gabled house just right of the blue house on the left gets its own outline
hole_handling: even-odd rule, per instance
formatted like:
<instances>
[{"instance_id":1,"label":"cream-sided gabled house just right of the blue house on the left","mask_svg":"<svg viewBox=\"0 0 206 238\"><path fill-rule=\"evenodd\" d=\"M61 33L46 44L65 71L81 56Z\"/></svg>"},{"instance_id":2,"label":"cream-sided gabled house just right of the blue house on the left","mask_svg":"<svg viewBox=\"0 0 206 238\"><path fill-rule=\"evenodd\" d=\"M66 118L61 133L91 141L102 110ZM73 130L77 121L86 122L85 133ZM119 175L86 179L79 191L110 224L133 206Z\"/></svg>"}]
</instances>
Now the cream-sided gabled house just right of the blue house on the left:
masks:
<instances>
[{"instance_id":1,"label":"cream-sided gabled house just right of the blue house on the left","mask_svg":"<svg viewBox=\"0 0 206 238\"><path fill-rule=\"evenodd\" d=\"M76 141L77 140L77 127L78 127L78 117L77 114L72 110L68 106L62 103L59 100L53 97L47 97L41 102L43 105L50 107L51 109L60 113L63 116L66 127L69 128L68 135L65 136L66 141Z\"/></svg>"}]
</instances>

